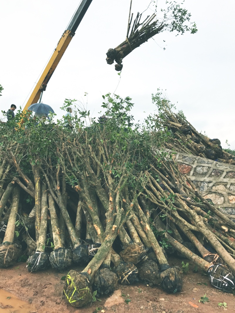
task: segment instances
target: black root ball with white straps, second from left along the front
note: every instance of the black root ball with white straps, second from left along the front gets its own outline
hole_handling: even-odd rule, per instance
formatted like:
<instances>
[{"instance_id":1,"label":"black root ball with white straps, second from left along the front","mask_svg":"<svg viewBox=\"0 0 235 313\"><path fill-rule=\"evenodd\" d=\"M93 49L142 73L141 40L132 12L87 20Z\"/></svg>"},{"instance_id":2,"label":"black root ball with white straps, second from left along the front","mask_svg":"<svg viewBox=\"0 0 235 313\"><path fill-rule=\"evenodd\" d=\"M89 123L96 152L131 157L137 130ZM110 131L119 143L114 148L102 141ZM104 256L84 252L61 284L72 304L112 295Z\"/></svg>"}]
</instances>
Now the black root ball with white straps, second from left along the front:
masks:
<instances>
[{"instance_id":1,"label":"black root ball with white straps, second from left along the front","mask_svg":"<svg viewBox=\"0 0 235 313\"><path fill-rule=\"evenodd\" d=\"M36 251L26 262L29 272L37 272L46 269L50 265L49 255L46 252Z\"/></svg>"}]
</instances>

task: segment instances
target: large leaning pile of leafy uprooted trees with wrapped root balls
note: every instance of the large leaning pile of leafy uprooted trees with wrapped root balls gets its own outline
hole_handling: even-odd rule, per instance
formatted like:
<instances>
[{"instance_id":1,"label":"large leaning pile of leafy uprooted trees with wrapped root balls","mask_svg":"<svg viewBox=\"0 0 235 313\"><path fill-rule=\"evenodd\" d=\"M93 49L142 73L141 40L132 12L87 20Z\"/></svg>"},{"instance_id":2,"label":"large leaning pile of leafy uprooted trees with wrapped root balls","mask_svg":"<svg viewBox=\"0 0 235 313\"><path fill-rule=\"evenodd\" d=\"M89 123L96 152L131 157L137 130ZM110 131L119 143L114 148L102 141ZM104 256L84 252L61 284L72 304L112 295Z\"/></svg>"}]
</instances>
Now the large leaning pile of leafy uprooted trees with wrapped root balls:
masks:
<instances>
[{"instance_id":1,"label":"large leaning pile of leafy uprooted trees with wrapped root balls","mask_svg":"<svg viewBox=\"0 0 235 313\"><path fill-rule=\"evenodd\" d=\"M73 103L65 100L64 107ZM62 270L71 262L84 267L68 273L63 289L66 300L80 307L93 290L106 295L118 281L141 279L180 291L180 269L163 251L170 244L209 269L213 285L231 292L235 224L201 197L165 152L174 141L165 121L175 119L165 104L159 103L162 123L152 115L134 124L131 98L110 94L103 96L104 115L89 126L89 112L81 108L71 118L73 129L62 121L34 126L26 117L25 129L1 123L0 213L8 224L5 237L0 231L0 266L13 264L20 242L24 248L31 238L30 272L50 264ZM22 220L24 227L15 230ZM210 254L205 242L219 255Z\"/></svg>"}]
</instances>

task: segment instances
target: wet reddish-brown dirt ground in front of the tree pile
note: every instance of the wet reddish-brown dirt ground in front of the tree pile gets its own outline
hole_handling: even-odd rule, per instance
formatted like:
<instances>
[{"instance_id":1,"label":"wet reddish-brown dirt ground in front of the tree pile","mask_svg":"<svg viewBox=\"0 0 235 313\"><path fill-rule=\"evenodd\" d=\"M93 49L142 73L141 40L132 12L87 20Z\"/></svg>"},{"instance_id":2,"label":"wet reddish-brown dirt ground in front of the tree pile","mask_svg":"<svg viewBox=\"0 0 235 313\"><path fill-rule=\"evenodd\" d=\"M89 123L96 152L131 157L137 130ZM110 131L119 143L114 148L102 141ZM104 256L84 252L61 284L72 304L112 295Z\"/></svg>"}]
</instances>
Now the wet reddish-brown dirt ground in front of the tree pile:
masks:
<instances>
[{"instance_id":1,"label":"wet reddish-brown dirt ground in front of the tree pile","mask_svg":"<svg viewBox=\"0 0 235 313\"><path fill-rule=\"evenodd\" d=\"M58 273L53 269L31 274L27 271L24 263L17 263L9 269L0 269L0 312L14 313L92 313L92 312L159 312L159 313L210 313L227 310L234 312L235 297L232 294L223 293L213 288L207 276L201 271L194 273L190 267L188 274L184 274L183 290L177 294L167 294L158 287L149 287L143 284L132 286L118 285L119 304L105 306L108 297L102 297L101 301L93 302L81 309L74 309L65 303L62 297L64 282L61 277L67 271ZM76 269L75 267L73 269ZM7 293L12 294L31 304L24 309L4 308L7 303ZM199 303L198 300L204 295L210 302ZM110 299L114 303L112 298ZM125 301L127 300L127 301ZM130 300L130 302L128 302ZM4 302L5 301L5 302ZM8 297L10 304L10 297ZM128 302L128 303L127 303ZM219 307L218 303L226 302L227 308ZM25 304L26 305L26 304ZM194 307L196 305L196 307ZM22 308L22 306L21 306ZM14 309L14 310L13 310ZM102 311L103 310L103 311Z\"/></svg>"}]
</instances>

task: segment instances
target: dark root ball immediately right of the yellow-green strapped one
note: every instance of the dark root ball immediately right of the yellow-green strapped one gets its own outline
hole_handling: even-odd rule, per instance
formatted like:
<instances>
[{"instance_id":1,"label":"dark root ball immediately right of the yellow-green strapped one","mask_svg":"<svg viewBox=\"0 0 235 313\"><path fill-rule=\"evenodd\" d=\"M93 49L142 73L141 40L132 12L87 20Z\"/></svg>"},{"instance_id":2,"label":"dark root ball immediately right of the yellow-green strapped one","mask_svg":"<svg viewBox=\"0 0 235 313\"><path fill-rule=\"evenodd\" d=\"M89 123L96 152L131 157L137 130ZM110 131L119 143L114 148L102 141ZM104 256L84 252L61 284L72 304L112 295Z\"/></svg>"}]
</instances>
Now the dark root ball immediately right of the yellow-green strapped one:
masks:
<instances>
[{"instance_id":1,"label":"dark root ball immediately right of the yellow-green strapped one","mask_svg":"<svg viewBox=\"0 0 235 313\"><path fill-rule=\"evenodd\" d=\"M108 268L100 268L94 276L93 290L97 290L97 296L113 293L118 284L117 275Z\"/></svg>"}]
</instances>

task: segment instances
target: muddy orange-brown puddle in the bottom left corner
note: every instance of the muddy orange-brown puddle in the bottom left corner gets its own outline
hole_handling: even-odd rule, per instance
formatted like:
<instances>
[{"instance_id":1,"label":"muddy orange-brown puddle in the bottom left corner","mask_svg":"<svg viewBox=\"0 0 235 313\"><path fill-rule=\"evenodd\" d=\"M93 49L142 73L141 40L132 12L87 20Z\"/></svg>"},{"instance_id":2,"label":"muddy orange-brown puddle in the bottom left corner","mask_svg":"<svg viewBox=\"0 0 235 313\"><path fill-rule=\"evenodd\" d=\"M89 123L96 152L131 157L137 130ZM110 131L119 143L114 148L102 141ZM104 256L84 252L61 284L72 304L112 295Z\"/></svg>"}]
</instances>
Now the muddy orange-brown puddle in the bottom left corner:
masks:
<instances>
[{"instance_id":1,"label":"muddy orange-brown puddle in the bottom left corner","mask_svg":"<svg viewBox=\"0 0 235 313\"><path fill-rule=\"evenodd\" d=\"M17 298L15 295L0 289L0 312L1 313L33 313L36 312L34 305Z\"/></svg>"}]
</instances>

